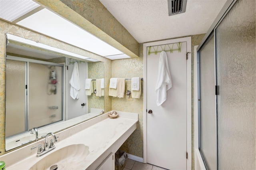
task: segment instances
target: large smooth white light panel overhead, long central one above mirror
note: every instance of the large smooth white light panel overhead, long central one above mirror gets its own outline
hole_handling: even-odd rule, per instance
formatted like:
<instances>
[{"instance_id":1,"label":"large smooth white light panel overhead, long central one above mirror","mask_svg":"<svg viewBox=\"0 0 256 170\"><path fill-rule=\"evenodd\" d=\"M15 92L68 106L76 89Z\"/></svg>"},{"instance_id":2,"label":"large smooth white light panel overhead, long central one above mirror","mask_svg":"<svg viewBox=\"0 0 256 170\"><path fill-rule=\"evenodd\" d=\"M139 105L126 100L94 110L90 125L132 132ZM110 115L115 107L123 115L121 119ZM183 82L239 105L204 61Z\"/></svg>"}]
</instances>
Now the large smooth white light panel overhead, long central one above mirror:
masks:
<instances>
[{"instance_id":1,"label":"large smooth white light panel overhead, long central one above mirror","mask_svg":"<svg viewBox=\"0 0 256 170\"><path fill-rule=\"evenodd\" d=\"M48 9L40 10L17 24L101 56L122 54L118 49Z\"/></svg>"}]
</instances>

